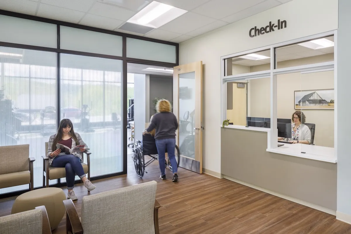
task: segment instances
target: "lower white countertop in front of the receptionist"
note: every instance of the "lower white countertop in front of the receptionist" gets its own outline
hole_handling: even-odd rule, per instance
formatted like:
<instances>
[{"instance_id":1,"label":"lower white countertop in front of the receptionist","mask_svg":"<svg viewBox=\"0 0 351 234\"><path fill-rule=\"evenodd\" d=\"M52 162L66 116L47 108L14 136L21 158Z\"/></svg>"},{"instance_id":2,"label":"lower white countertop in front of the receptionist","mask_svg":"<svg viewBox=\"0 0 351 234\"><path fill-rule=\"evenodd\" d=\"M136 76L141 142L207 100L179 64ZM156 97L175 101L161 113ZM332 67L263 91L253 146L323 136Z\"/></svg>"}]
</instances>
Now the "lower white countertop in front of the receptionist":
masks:
<instances>
[{"instance_id":1,"label":"lower white countertop in front of the receptionist","mask_svg":"<svg viewBox=\"0 0 351 234\"><path fill-rule=\"evenodd\" d=\"M296 156L299 158L313 159L324 162L337 163L336 156L334 155L334 148L324 146L314 146L305 144L284 144L283 146L279 146L275 149L267 149L267 152L286 154L290 156Z\"/></svg>"}]
</instances>

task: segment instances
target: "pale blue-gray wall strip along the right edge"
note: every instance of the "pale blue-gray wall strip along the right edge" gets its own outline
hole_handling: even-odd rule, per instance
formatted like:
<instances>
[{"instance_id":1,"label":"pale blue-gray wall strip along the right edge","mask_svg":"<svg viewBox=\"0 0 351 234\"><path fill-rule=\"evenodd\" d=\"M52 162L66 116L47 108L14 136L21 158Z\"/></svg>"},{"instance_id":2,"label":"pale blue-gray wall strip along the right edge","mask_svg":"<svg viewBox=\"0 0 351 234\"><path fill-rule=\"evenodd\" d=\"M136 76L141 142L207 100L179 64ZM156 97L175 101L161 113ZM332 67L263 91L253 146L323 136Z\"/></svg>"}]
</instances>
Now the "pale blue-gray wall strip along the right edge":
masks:
<instances>
[{"instance_id":1,"label":"pale blue-gray wall strip along the right edge","mask_svg":"<svg viewBox=\"0 0 351 234\"><path fill-rule=\"evenodd\" d=\"M335 147L338 156L338 208L337 211L351 215L351 125L348 120L351 116L351 66L350 66L350 22L351 1L339 0L339 28L337 35L337 141Z\"/></svg>"}]
</instances>

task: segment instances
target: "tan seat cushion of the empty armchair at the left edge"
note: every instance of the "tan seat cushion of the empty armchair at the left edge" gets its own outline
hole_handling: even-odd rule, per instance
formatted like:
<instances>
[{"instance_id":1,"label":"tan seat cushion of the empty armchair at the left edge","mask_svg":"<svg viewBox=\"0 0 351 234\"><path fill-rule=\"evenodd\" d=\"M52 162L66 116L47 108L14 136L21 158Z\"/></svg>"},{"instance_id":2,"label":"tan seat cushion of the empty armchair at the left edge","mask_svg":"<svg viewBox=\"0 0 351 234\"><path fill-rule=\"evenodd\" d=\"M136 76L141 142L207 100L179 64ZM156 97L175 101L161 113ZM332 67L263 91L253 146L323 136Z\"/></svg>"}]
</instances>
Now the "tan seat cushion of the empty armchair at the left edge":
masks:
<instances>
[{"instance_id":1,"label":"tan seat cushion of the empty armchair at the left edge","mask_svg":"<svg viewBox=\"0 0 351 234\"><path fill-rule=\"evenodd\" d=\"M28 159L27 159L28 164ZM0 188L7 188L17 185L25 185L31 182L31 172L14 172L9 174L0 174Z\"/></svg>"}]
</instances>

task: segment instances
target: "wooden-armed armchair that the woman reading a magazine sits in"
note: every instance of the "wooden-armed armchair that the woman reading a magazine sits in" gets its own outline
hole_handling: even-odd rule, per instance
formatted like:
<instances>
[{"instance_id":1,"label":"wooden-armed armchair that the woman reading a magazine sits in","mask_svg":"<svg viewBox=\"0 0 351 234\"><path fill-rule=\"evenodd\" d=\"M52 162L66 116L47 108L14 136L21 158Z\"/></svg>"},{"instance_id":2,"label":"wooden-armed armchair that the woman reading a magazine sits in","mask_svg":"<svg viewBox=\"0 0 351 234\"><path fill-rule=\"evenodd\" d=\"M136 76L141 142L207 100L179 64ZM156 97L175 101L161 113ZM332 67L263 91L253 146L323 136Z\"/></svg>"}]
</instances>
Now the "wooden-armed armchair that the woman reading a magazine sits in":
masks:
<instances>
[{"instance_id":1,"label":"wooden-armed armchair that the woman reading a magazine sits in","mask_svg":"<svg viewBox=\"0 0 351 234\"><path fill-rule=\"evenodd\" d=\"M52 167L49 165L49 158L47 156L47 148L49 143L45 142L45 156L43 158L43 188L49 187L49 180L61 179L66 177L66 169L64 167ZM89 151L84 151L82 154L82 159L84 161L84 154L87 155L87 164L82 162L84 173L87 174L88 180L90 180L90 155Z\"/></svg>"}]
</instances>

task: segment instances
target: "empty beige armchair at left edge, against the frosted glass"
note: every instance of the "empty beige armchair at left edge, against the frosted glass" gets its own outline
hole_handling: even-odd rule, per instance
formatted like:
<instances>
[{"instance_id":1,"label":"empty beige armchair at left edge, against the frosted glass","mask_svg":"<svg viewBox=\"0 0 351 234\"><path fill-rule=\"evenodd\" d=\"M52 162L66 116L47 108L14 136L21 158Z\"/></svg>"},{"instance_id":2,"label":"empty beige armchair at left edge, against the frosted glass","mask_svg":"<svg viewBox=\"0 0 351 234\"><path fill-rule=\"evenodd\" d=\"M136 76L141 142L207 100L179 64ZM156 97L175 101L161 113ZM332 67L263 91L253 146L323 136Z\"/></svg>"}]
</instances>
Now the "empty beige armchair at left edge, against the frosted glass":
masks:
<instances>
[{"instance_id":1,"label":"empty beige armchair at left edge, against the frosted glass","mask_svg":"<svg viewBox=\"0 0 351 234\"><path fill-rule=\"evenodd\" d=\"M0 146L0 188L29 184L33 190L33 162L29 145Z\"/></svg>"}]
</instances>

